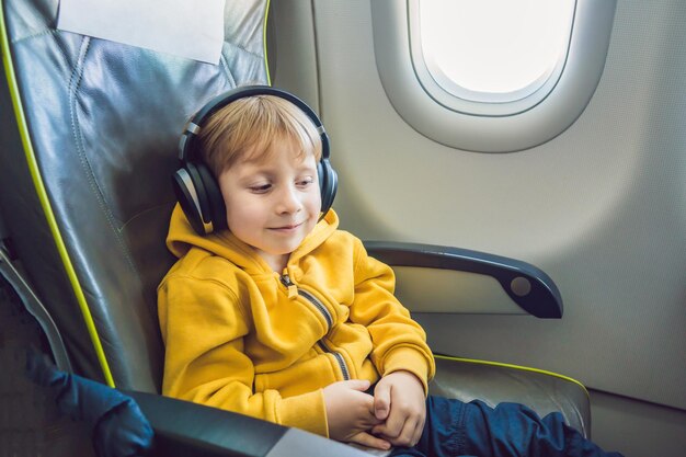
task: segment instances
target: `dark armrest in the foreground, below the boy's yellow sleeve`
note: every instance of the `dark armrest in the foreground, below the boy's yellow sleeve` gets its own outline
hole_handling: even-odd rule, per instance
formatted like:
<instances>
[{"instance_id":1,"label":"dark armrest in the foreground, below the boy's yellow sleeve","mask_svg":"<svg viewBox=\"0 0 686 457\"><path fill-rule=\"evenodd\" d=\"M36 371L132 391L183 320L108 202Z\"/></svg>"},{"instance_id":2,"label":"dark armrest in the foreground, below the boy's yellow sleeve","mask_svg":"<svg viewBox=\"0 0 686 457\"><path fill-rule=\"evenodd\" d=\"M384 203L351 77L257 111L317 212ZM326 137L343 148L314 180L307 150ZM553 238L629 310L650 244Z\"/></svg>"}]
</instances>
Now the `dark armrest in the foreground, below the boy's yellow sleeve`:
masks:
<instances>
[{"instance_id":1,"label":"dark armrest in the foreground, below the boy's yellow sleeve","mask_svg":"<svg viewBox=\"0 0 686 457\"><path fill-rule=\"evenodd\" d=\"M164 457L368 457L353 447L271 422L153 393L127 391L155 431Z\"/></svg>"}]
</instances>

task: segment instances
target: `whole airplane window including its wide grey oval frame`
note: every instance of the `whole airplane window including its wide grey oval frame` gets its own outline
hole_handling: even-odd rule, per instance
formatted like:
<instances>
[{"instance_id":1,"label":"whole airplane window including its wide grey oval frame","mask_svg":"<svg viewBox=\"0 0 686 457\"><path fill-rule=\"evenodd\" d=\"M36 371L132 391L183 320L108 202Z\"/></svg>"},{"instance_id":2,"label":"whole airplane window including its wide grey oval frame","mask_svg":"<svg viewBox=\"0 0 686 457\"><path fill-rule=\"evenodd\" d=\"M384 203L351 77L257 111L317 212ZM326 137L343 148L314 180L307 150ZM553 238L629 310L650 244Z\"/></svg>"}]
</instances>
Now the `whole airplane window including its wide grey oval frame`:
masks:
<instances>
[{"instance_id":1,"label":"whole airplane window including its wide grey oval frame","mask_svg":"<svg viewBox=\"0 0 686 457\"><path fill-rule=\"evenodd\" d=\"M616 0L373 1L380 82L425 137L512 152L557 137L601 81Z\"/></svg>"}]
</instances>

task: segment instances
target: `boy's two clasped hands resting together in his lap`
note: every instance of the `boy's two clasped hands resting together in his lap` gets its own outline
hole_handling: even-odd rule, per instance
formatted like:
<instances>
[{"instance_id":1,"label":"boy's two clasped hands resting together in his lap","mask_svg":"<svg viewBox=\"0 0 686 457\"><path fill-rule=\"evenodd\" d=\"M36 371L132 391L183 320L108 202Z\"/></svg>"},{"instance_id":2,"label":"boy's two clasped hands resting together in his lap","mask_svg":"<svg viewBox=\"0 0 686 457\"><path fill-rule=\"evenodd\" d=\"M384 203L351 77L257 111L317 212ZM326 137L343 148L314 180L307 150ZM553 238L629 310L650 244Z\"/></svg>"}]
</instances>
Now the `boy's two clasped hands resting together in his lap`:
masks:
<instances>
[{"instance_id":1,"label":"boy's two clasped hands resting together in his lap","mask_svg":"<svg viewBox=\"0 0 686 457\"><path fill-rule=\"evenodd\" d=\"M414 446L424 429L424 388L410 372L393 372L366 393L367 380L334 382L323 389L329 436L378 449Z\"/></svg>"}]
</instances>

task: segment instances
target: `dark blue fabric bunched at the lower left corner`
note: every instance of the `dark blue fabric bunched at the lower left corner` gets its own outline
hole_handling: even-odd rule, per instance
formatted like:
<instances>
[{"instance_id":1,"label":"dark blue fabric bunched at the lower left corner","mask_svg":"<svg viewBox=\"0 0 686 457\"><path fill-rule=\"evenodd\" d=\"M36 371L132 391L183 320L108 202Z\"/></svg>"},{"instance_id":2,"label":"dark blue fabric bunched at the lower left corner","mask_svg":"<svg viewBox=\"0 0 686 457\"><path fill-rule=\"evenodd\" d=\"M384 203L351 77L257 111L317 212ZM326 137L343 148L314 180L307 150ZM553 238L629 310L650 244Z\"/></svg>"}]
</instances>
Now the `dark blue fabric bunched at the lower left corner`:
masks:
<instances>
[{"instance_id":1,"label":"dark blue fabric bunched at the lower left corner","mask_svg":"<svg viewBox=\"0 0 686 457\"><path fill-rule=\"evenodd\" d=\"M93 425L100 457L145 456L152 447L152 427L136 401L103 384L57 369L44 354L31 351L28 377L55 393L59 410Z\"/></svg>"}]
</instances>

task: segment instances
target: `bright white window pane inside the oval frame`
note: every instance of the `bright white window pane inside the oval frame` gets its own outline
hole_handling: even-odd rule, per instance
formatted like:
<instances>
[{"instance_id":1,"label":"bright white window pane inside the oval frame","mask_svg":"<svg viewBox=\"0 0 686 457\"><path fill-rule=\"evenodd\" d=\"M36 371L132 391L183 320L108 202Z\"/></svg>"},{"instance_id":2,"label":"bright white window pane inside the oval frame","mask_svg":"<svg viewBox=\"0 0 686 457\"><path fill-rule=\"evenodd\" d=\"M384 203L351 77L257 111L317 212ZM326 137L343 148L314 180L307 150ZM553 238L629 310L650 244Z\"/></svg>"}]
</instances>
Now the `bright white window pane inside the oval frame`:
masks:
<instances>
[{"instance_id":1,"label":"bright white window pane inside the oval frame","mask_svg":"<svg viewBox=\"0 0 686 457\"><path fill-rule=\"evenodd\" d=\"M426 65L434 81L454 95L476 102L511 102L559 76L575 0L418 3L419 21L411 21L411 26L413 22L419 25L423 57L419 64Z\"/></svg>"}]
</instances>

